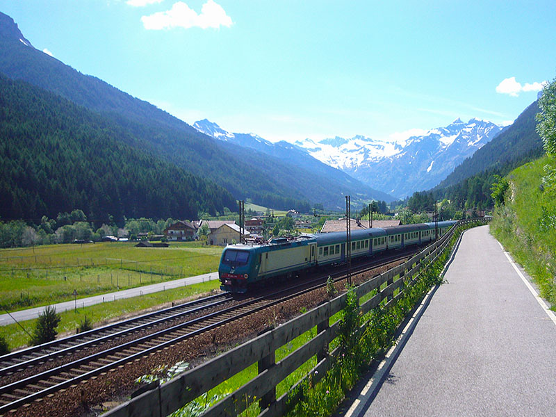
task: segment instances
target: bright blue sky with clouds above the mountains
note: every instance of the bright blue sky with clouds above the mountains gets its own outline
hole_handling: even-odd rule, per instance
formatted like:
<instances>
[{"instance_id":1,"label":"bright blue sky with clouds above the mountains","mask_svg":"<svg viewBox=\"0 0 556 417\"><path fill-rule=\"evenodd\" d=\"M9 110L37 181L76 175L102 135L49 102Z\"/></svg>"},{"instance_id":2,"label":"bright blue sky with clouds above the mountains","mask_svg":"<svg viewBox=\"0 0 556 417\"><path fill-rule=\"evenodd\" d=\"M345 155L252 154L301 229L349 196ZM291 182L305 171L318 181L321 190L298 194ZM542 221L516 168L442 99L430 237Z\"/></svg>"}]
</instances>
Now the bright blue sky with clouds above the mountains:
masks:
<instances>
[{"instance_id":1,"label":"bright blue sky with clouds above the mountains","mask_svg":"<svg viewBox=\"0 0 556 417\"><path fill-rule=\"evenodd\" d=\"M0 0L37 49L268 140L502 124L556 77L556 2Z\"/></svg>"}]
</instances>

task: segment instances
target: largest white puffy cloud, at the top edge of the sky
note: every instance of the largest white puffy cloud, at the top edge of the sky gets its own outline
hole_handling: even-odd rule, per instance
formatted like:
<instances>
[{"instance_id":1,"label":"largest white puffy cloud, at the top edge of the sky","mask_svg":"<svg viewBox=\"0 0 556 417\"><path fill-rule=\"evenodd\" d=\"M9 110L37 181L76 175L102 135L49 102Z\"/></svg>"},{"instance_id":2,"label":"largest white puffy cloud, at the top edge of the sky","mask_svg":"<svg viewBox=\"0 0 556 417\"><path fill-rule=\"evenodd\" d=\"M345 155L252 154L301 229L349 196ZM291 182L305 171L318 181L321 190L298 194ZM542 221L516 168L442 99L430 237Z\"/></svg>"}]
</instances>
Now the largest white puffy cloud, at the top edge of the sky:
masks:
<instances>
[{"instance_id":1,"label":"largest white puffy cloud, at the top edge of the sky","mask_svg":"<svg viewBox=\"0 0 556 417\"><path fill-rule=\"evenodd\" d=\"M147 30L160 31L171 28L219 28L220 26L231 26L229 17L222 6L213 0L204 3L201 14L197 15L195 10L189 8L183 1L174 3L170 10L154 13L154 15L141 17L141 22Z\"/></svg>"}]
</instances>

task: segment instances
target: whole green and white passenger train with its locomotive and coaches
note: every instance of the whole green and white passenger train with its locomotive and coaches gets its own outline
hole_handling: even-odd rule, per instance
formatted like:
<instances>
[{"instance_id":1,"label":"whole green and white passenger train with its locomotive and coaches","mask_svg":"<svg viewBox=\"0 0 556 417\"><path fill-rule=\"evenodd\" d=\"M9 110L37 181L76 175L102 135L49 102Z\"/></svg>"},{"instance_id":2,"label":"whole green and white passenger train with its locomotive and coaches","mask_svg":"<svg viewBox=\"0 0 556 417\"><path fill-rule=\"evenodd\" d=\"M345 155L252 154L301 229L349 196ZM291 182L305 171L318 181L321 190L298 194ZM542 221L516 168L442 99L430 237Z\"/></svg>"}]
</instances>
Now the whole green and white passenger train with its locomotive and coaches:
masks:
<instances>
[{"instance_id":1,"label":"whole green and white passenger train with its locomotive and coaches","mask_svg":"<svg viewBox=\"0 0 556 417\"><path fill-rule=\"evenodd\" d=\"M373 227L351 231L351 257L375 256L386 251L429 243L443 236L453 220ZM228 245L222 251L218 277L220 288L247 293L257 284L290 279L309 270L346 261L345 231L301 234L295 239L273 238L264 245Z\"/></svg>"}]
</instances>

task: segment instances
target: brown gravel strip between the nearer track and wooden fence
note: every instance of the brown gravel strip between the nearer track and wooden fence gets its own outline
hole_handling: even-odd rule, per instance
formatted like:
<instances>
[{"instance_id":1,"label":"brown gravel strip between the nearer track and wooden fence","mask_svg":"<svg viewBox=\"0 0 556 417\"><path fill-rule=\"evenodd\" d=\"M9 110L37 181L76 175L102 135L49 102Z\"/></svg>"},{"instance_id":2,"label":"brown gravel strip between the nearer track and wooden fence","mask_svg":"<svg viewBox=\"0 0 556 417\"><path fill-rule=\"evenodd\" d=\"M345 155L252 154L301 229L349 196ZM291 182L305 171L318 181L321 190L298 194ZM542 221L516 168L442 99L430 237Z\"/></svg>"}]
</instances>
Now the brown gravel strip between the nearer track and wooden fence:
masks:
<instances>
[{"instance_id":1,"label":"brown gravel strip between the nearer track and wooden fence","mask_svg":"<svg viewBox=\"0 0 556 417\"><path fill-rule=\"evenodd\" d=\"M400 263L402 261L375 268L364 274L353 275L352 282L359 284ZM335 286L338 291L343 290L343 281L336 283ZM291 320L298 316L302 309L313 309L326 299L325 288L300 295L279 306L270 306L258 313L235 320L228 325L222 325L141 359L136 359L136 361L126 363L108 373L70 386L70 388L46 398L26 404L15 411L10 411L6 416L99 416L107 409L128 400L129 395L139 388L135 383L136 379L152 373L157 366L172 366L179 361L187 361L192 364L202 363L237 343L249 340L270 325L279 325Z\"/></svg>"}]
</instances>

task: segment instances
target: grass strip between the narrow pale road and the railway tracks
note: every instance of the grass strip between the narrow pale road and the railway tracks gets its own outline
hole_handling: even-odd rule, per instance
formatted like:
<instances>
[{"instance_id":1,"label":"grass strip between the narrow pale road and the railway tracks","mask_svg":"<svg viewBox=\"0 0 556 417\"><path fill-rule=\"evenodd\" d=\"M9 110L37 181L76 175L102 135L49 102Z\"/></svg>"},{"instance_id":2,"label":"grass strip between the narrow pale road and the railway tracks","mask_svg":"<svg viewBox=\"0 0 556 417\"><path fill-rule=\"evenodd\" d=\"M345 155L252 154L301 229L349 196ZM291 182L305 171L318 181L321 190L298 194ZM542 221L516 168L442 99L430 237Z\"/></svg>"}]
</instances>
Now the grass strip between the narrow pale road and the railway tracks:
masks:
<instances>
[{"instance_id":1,"label":"grass strip between the narrow pale road and the railway tracks","mask_svg":"<svg viewBox=\"0 0 556 417\"><path fill-rule=\"evenodd\" d=\"M107 301L94 306L78 308L76 310L60 312L62 320L58 325L58 334L75 333L80 323L85 320L85 315L92 320L94 327L106 324L118 318L135 315L139 311L155 309L157 307L168 305L172 302L187 300L190 297L199 296L204 293L218 289L220 281L213 280L201 284L193 284L181 288L161 291L142 295L140 297L126 298L124 300ZM79 305L79 304L78 304ZM20 324L30 334L33 333L35 322L37 320L26 320ZM0 327L0 335L6 338L8 347L13 350L23 347L28 343L29 336L17 324Z\"/></svg>"}]
</instances>

